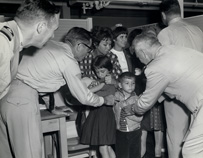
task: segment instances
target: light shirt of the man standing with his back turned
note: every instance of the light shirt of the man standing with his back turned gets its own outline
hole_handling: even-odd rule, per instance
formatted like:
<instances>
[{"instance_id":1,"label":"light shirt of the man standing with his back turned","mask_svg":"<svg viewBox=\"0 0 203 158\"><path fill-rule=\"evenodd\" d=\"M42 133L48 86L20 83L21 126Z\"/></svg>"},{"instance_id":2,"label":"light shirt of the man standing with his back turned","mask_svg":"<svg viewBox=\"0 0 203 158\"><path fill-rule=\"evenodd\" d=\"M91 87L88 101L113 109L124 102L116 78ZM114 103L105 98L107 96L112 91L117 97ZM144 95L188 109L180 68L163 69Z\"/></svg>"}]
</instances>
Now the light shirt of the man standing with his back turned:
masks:
<instances>
[{"instance_id":1,"label":"light shirt of the man standing with his back turned","mask_svg":"<svg viewBox=\"0 0 203 158\"><path fill-rule=\"evenodd\" d=\"M170 21L169 26L158 34L158 39L162 45L184 46L203 52L202 31L180 17Z\"/></svg>"}]
</instances>

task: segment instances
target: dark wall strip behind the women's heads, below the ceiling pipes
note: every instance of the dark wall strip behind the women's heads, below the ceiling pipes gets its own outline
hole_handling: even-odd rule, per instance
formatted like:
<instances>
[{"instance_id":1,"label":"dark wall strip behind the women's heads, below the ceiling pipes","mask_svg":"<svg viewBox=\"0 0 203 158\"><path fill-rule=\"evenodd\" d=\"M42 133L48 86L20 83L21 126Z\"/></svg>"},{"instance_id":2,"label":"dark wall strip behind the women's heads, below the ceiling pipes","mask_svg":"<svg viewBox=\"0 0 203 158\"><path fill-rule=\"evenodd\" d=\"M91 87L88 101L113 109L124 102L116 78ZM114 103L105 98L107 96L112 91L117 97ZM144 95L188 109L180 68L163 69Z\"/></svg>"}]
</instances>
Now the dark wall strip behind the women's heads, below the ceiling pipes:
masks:
<instances>
[{"instance_id":1,"label":"dark wall strip behind the women's heads, below the ceiling pipes","mask_svg":"<svg viewBox=\"0 0 203 158\"><path fill-rule=\"evenodd\" d=\"M161 20L159 11L145 10L87 10L86 14L82 13L80 8L71 9L71 18L87 18L93 19L93 26L108 26L112 27L115 24L122 23L126 27L140 26L150 23L155 23Z\"/></svg>"}]
</instances>

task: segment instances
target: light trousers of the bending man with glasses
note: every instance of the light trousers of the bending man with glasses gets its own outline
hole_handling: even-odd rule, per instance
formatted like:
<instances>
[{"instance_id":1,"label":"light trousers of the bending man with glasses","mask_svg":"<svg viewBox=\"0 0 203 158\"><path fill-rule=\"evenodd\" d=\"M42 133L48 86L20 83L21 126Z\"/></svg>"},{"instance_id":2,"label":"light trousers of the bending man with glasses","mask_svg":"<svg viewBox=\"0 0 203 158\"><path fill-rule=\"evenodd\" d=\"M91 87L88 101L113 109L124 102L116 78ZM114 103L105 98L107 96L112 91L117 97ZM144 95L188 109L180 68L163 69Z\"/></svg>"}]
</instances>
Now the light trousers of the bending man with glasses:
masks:
<instances>
[{"instance_id":1,"label":"light trousers of the bending man with glasses","mask_svg":"<svg viewBox=\"0 0 203 158\"><path fill-rule=\"evenodd\" d=\"M38 93L14 80L0 102L0 158L41 158Z\"/></svg>"}]
</instances>

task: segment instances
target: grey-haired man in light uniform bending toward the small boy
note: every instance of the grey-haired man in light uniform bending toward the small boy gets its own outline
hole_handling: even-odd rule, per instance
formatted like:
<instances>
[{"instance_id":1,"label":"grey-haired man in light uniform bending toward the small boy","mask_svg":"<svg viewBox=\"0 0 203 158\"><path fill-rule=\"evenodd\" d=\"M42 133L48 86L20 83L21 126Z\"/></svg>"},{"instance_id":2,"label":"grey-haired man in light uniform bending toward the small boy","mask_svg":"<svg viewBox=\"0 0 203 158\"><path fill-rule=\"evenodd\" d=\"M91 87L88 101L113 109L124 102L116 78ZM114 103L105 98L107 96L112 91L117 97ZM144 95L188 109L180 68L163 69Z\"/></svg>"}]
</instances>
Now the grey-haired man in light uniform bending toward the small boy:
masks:
<instances>
[{"instance_id":1,"label":"grey-haired man in light uniform bending toward the small boy","mask_svg":"<svg viewBox=\"0 0 203 158\"><path fill-rule=\"evenodd\" d=\"M183 157L202 158L203 55L190 48L162 46L156 37L147 34L135 37L133 47L138 58L147 65L147 85L137 102L126 112L132 109L137 114L144 114L163 92L181 101L192 114L183 145Z\"/></svg>"}]
</instances>

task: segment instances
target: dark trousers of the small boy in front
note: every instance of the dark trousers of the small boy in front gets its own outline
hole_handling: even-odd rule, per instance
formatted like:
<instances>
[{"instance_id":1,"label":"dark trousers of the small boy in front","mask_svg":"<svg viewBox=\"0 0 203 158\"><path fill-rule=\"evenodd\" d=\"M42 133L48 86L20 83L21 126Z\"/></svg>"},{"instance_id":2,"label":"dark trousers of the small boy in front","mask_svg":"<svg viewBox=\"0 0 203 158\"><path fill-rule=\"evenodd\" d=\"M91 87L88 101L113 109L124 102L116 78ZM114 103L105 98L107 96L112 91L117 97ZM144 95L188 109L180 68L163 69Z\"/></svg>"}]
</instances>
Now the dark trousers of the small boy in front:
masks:
<instances>
[{"instance_id":1,"label":"dark trousers of the small boy in front","mask_svg":"<svg viewBox=\"0 0 203 158\"><path fill-rule=\"evenodd\" d=\"M116 131L116 158L141 158L141 130Z\"/></svg>"}]
</instances>

